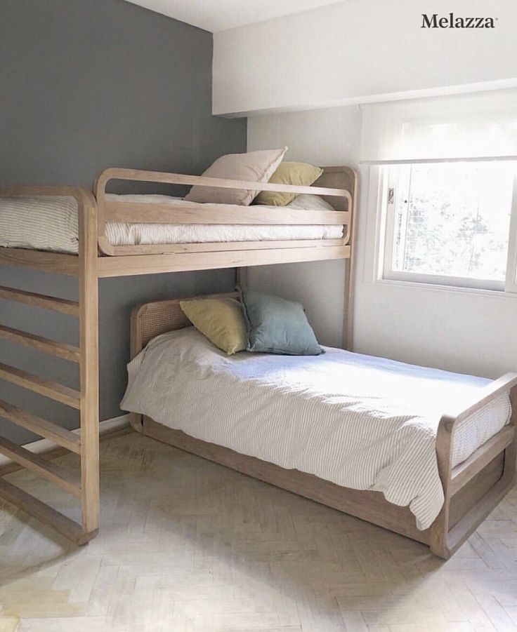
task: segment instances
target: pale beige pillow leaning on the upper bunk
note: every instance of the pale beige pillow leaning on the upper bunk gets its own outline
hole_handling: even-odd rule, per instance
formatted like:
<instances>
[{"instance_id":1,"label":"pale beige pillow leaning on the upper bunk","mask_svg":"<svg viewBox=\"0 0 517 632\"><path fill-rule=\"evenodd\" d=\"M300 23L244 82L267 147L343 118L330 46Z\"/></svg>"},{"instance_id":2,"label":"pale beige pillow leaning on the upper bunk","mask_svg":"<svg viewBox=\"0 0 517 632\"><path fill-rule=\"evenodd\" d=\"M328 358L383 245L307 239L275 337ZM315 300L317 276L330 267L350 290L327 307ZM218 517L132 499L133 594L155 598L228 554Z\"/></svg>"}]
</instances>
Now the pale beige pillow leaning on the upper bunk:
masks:
<instances>
[{"instance_id":1,"label":"pale beige pillow leaning on the upper bunk","mask_svg":"<svg viewBox=\"0 0 517 632\"><path fill-rule=\"evenodd\" d=\"M264 149L247 154L226 154L218 158L204 173L207 177L222 177L244 182L268 182L287 147ZM258 191L246 189L218 189L216 187L195 186L190 189L185 200L189 202L211 202L214 204L241 204L249 206Z\"/></svg>"}]
</instances>

